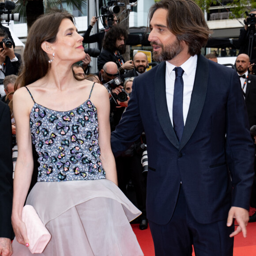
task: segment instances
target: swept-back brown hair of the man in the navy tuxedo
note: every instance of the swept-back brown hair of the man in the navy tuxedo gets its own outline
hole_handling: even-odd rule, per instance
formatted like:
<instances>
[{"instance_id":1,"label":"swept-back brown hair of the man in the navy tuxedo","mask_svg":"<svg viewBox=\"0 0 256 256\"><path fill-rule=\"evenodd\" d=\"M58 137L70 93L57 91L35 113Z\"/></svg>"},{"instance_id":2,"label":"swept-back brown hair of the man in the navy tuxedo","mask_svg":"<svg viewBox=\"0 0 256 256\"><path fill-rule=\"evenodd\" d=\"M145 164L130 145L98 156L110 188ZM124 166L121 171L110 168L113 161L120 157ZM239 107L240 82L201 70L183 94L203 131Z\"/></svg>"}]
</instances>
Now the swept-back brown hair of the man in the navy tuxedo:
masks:
<instances>
[{"instance_id":1,"label":"swept-back brown hair of the man in the navy tuxedo","mask_svg":"<svg viewBox=\"0 0 256 256\"><path fill-rule=\"evenodd\" d=\"M200 54L211 30L199 6L192 0L162 0L151 6L150 21L159 8L168 11L166 20L168 29L176 35L178 41L184 41L188 45L188 53L192 56Z\"/></svg>"}]
</instances>

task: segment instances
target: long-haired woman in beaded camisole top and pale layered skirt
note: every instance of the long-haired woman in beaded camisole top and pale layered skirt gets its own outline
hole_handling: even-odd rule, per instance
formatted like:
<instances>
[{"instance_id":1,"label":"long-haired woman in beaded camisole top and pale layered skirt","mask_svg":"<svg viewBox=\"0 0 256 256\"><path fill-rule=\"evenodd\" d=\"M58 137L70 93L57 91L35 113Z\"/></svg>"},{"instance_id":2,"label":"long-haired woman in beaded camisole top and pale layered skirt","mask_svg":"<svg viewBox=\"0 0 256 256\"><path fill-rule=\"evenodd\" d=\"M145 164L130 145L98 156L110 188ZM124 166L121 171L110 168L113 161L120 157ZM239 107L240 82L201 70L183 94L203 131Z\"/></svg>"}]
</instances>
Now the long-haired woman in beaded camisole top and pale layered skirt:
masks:
<instances>
[{"instance_id":1,"label":"long-haired woman in beaded camisole top and pale layered skirt","mask_svg":"<svg viewBox=\"0 0 256 256\"><path fill-rule=\"evenodd\" d=\"M85 58L82 41L72 15L60 12L38 19L27 37L21 88L13 96L19 151L13 255L30 255L21 212L33 173L32 143L40 166L26 204L52 235L40 255L143 255L129 224L140 212L117 187L108 92L72 72Z\"/></svg>"}]
</instances>

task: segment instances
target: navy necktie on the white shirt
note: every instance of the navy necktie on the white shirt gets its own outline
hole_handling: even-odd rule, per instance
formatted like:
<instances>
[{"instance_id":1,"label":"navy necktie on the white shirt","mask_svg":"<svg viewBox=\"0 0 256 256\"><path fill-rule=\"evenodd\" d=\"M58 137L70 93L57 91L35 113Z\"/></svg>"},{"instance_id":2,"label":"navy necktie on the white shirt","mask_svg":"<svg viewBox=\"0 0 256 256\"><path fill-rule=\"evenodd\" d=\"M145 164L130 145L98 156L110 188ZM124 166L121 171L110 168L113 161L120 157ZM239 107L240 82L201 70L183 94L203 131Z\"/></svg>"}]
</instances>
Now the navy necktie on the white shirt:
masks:
<instances>
[{"instance_id":1,"label":"navy necktie on the white shirt","mask_svg":"<svg viewBox=\"0 0 256 256\"><path fill-rule=\"evenodd\" d=\"M183 79L184 70L181 67L173 69L175 71L174 93L173 93L173 129L181 143L184 130L183 120Z\"/></svg>"}]
</instances>

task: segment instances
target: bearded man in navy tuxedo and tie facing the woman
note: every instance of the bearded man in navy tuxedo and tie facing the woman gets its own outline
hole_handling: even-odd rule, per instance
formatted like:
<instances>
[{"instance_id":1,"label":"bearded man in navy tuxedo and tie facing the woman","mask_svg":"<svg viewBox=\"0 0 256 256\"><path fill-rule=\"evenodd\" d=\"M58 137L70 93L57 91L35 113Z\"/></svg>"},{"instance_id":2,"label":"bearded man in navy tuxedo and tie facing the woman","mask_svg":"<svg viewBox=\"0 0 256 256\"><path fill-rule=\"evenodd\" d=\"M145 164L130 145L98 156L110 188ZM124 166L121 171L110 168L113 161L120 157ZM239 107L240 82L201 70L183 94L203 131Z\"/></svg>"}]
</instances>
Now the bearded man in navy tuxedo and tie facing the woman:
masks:
<instances>
[{"instance_id":1,"label":"bearded man in navy tuxedo and tie facing the woman","mask_svg":"<svg viewBox=\"0 0 256 256\"><path fill-rule=\"evenodd\" d=\"M246 237L254 147L237 73L200 55L210 30L192 0L149 12L158 66L134 79L111 137L115 155L145 131L147 218L156 256L233 255ZM233 218L238 226L234 230Z\"/></svg>"}]
</instances>

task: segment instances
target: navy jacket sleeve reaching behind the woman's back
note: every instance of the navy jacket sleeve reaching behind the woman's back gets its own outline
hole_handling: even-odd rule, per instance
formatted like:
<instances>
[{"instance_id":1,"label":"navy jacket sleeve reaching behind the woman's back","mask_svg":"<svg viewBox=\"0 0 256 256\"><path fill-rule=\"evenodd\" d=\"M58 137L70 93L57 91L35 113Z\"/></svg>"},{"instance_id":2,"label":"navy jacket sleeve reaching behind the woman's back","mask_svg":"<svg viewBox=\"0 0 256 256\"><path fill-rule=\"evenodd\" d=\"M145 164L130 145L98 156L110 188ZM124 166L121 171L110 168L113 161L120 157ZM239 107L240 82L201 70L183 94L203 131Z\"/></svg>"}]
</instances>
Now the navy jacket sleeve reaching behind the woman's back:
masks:
<instances>
[{"instance_id":1,"label":"navy jacket sleeve reaching behind the woman's back","mask_svg":"<svg viewBox=\"0 0 256 256\"><path fill-rule=\"evenodd\" d=\"M144 130L137 96L135 79L133 81L132 94L128 102L128 107L115 131L111 133L111 148L115 156L127 150L133 142L139 139L139 136L141 136Z\"/></svg>"}]
</instances>

